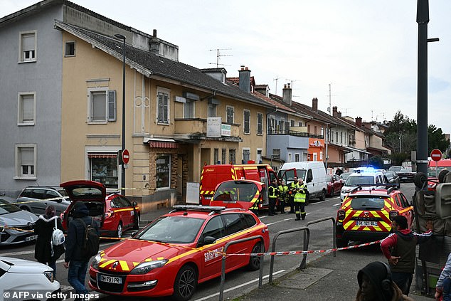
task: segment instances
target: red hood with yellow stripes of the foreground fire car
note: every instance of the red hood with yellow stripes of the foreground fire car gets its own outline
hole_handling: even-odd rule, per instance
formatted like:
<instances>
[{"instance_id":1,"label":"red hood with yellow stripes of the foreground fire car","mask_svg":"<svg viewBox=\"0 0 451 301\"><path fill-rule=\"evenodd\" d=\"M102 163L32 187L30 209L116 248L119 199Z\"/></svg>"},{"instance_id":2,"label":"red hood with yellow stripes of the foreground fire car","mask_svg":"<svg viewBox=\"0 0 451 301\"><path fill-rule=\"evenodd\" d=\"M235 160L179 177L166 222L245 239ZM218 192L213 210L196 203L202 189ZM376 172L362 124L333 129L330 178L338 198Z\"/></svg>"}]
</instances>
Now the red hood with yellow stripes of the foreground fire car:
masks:
<instances>
[{"instance_id":1,"label":"red hood with yellow stripes of the foreground fire car","mask_svg":"<svg viewBox=\"0 0 451 301\"><path fill-rule=\"evenodd\" d=\"M171 259L193 248L187 245L152 243L151 241L125 240L100 252L101 270L129 272L139 263L151 260Z\"/></svg>"}]
</instances>

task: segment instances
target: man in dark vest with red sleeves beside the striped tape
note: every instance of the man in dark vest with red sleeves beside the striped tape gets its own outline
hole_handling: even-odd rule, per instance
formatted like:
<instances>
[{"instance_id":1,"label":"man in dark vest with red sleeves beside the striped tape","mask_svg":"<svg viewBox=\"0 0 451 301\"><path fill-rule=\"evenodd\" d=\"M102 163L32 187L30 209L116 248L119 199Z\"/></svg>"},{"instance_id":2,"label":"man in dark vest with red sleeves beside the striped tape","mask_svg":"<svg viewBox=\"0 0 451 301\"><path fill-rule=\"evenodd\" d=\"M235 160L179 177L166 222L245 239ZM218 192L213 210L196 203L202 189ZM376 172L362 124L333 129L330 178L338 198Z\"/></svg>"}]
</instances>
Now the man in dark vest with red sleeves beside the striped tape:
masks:
<instances>
[{"instance_id":1,"label":"man in dark vest with red sleeves beside the striped tape","mask_svg":"<svg viewBox=\"0 0 451 301\"><path fill-rule=\"evenodd\" d=\"M428 221L428 231L418 234L408 229L405 216L395 216L391 228L393 233L381 241L381 249L390 264L393 281L407 296L415 271L415 246L433 235L433 223Z\"/></svg>"}]
</instances>

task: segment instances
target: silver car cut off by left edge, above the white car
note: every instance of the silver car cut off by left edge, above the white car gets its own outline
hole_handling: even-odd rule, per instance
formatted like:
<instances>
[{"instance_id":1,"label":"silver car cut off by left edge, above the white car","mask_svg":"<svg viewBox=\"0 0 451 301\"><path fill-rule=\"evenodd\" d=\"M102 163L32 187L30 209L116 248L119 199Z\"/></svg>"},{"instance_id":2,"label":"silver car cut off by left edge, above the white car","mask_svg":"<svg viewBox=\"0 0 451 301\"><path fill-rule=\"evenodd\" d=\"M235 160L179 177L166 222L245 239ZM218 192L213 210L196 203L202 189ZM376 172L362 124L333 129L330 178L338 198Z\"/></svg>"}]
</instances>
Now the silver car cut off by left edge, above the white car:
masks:
<instances>
[{"instance_id":1,"label":"silver car cut off by left edge, above the white car","mask_svg":"<svg viewBox=\"0 0 451 301\"><path fill-rule=\"evenodd\" d=\"M35 214L0 199L0 245L35 241L38 236L34 234L33 225L37 220Z\"/></svg>"}]
</instances>

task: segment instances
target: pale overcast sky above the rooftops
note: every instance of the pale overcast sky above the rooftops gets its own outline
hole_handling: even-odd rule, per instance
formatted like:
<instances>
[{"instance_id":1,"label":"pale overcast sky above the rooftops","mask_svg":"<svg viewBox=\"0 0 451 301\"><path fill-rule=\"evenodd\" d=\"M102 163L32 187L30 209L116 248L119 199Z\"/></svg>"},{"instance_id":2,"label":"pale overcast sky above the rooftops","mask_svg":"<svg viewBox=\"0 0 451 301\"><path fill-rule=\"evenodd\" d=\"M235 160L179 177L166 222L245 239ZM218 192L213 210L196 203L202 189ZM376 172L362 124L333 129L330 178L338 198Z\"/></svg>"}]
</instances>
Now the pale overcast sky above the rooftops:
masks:
<instances>
[{"instance_id":1,"label":"pale overcast sky above the rooftops","mask_svg":"<svg viewBox=\"0 0 451 301\"><path fill-rule=\"evenodd\" d=\"M38 1L0 0L6 16ZM327 112L392 120L400 110L417 120L416 0L73 0L110 19L179 46L179 60L220 67L240 65L257 84ZM451 1L429 1L428 124L451 132ZM277 80L276 80L277 79ZM331 92L329 93L329 84ZM330 96L330 98L329 98Z\"/></svg>"}]
</instances>

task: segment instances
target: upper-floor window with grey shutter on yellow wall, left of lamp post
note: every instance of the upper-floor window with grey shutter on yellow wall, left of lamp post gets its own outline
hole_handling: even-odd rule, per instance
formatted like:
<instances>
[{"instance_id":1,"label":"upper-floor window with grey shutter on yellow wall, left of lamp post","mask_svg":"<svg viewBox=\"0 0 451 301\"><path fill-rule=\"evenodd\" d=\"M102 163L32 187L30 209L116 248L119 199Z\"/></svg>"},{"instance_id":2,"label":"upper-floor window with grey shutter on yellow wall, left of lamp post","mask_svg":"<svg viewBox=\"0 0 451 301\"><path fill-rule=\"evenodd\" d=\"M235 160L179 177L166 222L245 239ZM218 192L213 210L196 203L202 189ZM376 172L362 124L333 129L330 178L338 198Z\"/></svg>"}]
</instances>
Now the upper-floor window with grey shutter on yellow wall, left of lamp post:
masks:
<instances>
[{"instance_id":1,"label":"upper-floor window with grey shutter on yellow wall, left of lamp post","mask_svg":"<svg viewBox=\"0 0 451 301\"><path fill-rule=\"evenodd\" d=\"M88 90L89 122L116 121L116 91L105 88Z\"/></svg>"}]
</instances>

